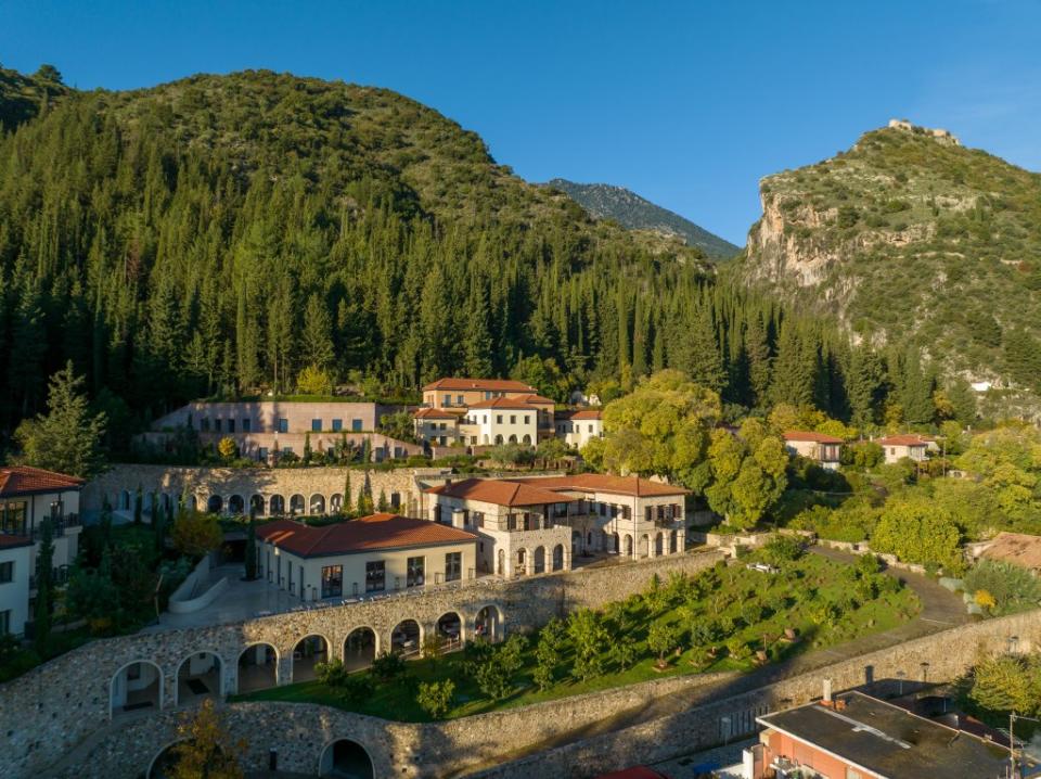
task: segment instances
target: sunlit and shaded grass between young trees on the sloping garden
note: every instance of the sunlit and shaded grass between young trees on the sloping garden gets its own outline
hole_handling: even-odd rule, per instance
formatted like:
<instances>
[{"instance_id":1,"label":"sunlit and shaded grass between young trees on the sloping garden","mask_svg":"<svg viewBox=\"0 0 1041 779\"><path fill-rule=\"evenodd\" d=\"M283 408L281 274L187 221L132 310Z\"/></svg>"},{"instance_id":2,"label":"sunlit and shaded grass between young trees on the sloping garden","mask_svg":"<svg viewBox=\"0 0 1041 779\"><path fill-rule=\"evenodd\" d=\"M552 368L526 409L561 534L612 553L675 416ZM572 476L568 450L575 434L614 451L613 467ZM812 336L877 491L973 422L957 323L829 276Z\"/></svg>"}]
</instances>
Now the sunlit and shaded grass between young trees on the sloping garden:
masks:
<instances>
[{"instance_id":1,"label":"sunlit and shaded grass between young trees on the sloping garden","mask_svg":"<svg viewBox=\"0 0 1041 779\"><path fill-rule=\"evenodd\" d=\"M259 690L234 700L320 703L386 719L429 721L415 702L419 684L451 679L455 695L447 718L463 717L664 676L748 672L763 663L756 657L757 650L766 653L766 663L775 663L889 630L912 618L921 608L910 589L898 588L898 583L884 574L864 574L817 554L783 562L777 573L746 567L746 563L759 559L720 564L693 577L673 577L600 610L596 622L607 640L600 653L603 673L591 678L573 678L575 641L574 636L565 637L554 665L554 681L539 690L532 679L538 666L536 634L527 638L520 653L512 692L498 701L478 688L477 661L466 652L411 662L403 677L377 680L374 692L362 700L351 700L343 689L319 681ZM676 630L664 671L655 668L657 655L647 648L647 634L655 623ZM786 628L795 631L795 641L784 638ZM635 662L622 668L612 648L626 640L634 643Z\"/></svg>"}]
</instances>

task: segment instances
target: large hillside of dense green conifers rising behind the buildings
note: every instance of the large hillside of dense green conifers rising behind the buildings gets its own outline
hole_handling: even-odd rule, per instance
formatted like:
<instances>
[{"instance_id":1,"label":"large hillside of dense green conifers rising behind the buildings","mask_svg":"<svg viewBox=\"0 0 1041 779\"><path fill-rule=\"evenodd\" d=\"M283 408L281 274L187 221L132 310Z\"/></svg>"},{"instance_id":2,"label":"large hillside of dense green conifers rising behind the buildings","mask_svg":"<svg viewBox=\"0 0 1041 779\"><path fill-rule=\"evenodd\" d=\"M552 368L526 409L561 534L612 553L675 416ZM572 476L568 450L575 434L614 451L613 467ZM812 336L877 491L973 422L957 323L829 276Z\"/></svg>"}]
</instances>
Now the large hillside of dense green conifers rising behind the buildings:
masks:
<instances>
[{"instance_id":1,"label":"large hillside of dense green conifers rising behind the buildings","mask_svg":"<svg viewBox=\"0 0 1041 779\"><path fill-rule=\"evenodd\" d=\"M2 107L2 106L0 106ZM522 375L558 398L663 367L745 407L929 421L916 359L591 220L393 92L246 72L69 92L0 137L0 429L72 360L118 447L198 396Z\"/></svg>"}]
</instances>

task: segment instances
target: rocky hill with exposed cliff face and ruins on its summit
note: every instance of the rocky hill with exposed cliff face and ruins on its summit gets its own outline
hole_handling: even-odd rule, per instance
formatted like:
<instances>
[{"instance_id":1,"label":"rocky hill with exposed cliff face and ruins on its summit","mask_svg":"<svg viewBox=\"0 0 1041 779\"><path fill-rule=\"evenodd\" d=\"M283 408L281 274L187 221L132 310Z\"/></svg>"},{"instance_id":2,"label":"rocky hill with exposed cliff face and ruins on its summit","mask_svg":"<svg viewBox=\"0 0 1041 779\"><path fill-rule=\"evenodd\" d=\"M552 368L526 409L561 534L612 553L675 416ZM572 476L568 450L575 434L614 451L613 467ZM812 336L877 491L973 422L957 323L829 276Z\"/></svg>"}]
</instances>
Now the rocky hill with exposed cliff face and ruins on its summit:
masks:
<instances>
[{"instance_id":1,"label":"rocky hill with exposed cliff face and ruins on its summit","mask_svg":"<svg viewBox=\"0 0 1041 779\"><path fill-rule=\"evenodd\" d=\"M949 374L1041 393L1041 176L891 124L762 180L740 278Z\"/></svg>"}]
</instances>

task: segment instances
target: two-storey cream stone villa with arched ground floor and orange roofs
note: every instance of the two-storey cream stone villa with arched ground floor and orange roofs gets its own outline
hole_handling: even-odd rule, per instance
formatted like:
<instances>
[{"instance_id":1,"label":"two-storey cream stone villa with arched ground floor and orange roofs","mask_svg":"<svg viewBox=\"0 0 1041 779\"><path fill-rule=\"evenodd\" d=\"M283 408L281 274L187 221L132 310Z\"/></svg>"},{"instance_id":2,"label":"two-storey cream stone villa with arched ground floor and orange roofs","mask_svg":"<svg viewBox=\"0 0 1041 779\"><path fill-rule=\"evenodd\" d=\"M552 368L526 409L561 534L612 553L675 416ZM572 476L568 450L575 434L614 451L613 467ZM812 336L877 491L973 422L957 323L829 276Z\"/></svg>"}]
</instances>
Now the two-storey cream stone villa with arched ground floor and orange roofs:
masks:
<instances>
[{"instance_id":1,"label":"two-storey cream stone villa with arched ground floor and orange roofs","mask_svg":"<svg viewBox=\"0 0 1041 779\"><path fill-rule=\"evenodd\" d=\"M426 494L429 520L477 534L478 569L504 577L568 571L576 558L682 552L689 490L637 476L582 473L465 478Z\"/></svg>"}]
</instances>

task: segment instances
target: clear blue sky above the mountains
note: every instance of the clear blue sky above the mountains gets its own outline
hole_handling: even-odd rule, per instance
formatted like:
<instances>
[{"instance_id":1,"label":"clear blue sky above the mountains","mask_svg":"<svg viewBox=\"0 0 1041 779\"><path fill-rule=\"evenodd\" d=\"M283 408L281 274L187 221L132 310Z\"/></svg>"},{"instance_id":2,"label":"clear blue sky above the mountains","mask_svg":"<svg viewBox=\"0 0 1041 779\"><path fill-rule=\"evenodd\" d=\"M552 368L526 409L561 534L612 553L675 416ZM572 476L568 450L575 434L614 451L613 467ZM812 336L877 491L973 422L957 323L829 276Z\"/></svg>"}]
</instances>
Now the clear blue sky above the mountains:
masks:
<instances>
[{"instance_id":1,"label":"clear blue sky above the mountains","mask_svg":"<svg viewBox=\"0 0 1041 779\"><path fill-rule=\"evenodd\" d=\"M377 85L531 181L638 193L743 244L760 177L890 117L1041 169L1041 2L9 2L0 63L80 88L266 67Z\"/></svg>"}]
</instances>

